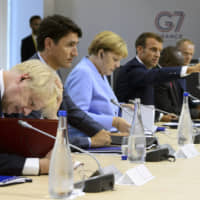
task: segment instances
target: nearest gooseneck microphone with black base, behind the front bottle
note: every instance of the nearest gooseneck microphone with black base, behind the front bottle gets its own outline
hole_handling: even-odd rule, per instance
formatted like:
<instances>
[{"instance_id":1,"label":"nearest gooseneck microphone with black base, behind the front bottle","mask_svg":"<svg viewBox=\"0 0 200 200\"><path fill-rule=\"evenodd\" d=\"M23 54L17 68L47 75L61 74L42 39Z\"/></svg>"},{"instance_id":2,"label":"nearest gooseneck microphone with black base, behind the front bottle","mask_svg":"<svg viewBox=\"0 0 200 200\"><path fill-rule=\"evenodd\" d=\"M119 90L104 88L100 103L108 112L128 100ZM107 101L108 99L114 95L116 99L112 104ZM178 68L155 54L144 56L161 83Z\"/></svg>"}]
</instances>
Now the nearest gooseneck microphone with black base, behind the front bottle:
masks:
<instances>
[{"instance_id":1,"label":"nearest gooseneck microphone with black base, behind the front bottle","mask_svg":"<svg viewBox=\"0 0 200 200\"><path fill-rule=\"evenodd\" d=\"M38 128L35 128L33 127L32 125L30 125L28 122L26 121L23 121L23 120L18 120L18 123L25 127L25 128L29 128L29 129L33 129L45 136L48 136L52 139L56 139L55 136L49 134L49 133L46 133ZM97 165L98 165L98 171L95 172L95 174L88 178L87 180L84 180L84 192L102 192L102 191L106 191L106 190L113 190L113 187L114 187L114 175L113 173L110 173L110 174L104 174L103 172L103 169L99 163L99 161L96 159L96 157L94 155L92 155L90 152L88 151L85 151L79 147L77 147L76 145L73 145L73 144L69 144L70 147L82 152L82 153L85 153L87 154L88 156L90 156L91 158L93 158ZM75 187L79 187L79 185L82 184L82 182L78 182L78 183L75 183Z\"/></svg>"}]
</instances>

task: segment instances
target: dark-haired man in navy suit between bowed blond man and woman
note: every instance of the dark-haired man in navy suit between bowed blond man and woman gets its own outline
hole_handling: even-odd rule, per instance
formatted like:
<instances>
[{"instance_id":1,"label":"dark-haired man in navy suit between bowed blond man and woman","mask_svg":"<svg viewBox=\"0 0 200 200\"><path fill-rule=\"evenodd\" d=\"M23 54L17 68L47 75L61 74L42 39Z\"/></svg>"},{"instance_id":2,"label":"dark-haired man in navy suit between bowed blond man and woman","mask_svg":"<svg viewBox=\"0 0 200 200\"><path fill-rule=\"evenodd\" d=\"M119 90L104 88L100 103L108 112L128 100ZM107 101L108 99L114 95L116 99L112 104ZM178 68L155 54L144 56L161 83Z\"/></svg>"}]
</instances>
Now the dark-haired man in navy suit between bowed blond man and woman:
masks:
<instances>
[{"instance_id":1,"label":"dark-haired man in navy suit between bowed blond man and woman","mask_svg":"<svg viewBox=\"0 0 200 200\"><path fill-rule=\"evenodd\" d=\"M55 71L60 68L69 68L74 57L78 55L77 44L81 35L81 29L71 19L60 15L49 16L40 24L37 38L38 52L32 58L40 59ZM80 136L81 132L88 136L81 137L81 140L71 136L70 142L84 147L109 145L111 133L78 108L68 94L64 93L63 96L61 108L67 109L69 124L76 128ZM127 123L118 117L116 123L113 124L119 130L126 125ZM85 140L88 142L83 145Z\"/></svg>"}]
</instances>

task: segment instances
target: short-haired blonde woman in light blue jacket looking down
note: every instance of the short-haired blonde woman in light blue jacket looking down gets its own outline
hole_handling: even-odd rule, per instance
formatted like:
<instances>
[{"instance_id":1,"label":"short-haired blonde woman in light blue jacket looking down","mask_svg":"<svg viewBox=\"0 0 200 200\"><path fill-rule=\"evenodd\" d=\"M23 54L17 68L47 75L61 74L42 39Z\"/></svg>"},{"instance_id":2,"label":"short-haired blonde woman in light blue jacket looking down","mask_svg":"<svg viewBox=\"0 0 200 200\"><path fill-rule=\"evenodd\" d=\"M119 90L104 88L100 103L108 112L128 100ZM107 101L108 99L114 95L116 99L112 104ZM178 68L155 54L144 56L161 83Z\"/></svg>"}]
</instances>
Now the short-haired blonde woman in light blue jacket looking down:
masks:
<instances>
[{"instance_id":1,"label":"short-haired blonde woman in light blue jacket looking down","mask_svg":"<svg viewBox=\"0 0 200 200\"><path fill-rule=\"evenodd\" d=\"M103 31L91 42L88 54L67 77L65 90L77 106L105 129L128 132L130 124L118 117L119 108L110 101L117 98L106 77L127 57L126 43L116 33Z\"/></svg>"}]
</instances>

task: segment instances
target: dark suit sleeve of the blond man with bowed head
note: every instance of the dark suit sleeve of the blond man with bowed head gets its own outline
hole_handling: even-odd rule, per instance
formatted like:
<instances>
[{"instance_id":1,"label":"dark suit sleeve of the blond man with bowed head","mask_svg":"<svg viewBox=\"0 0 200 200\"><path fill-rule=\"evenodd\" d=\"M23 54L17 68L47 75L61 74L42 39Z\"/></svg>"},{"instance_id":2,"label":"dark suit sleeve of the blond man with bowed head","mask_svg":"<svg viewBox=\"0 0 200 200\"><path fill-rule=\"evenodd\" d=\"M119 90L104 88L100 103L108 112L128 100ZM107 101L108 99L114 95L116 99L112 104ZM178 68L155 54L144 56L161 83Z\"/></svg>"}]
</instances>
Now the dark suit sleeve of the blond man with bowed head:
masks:
<instances>
[{"instance_id":1,"label":"dark suit sleeve of the blond man with bowed head","mask_svg":"<svg viewBox=\"0 0 200 200\"><path fill-rule=\"evenodd\" d=\"M2 116L1 99L0 99L0 116ZM0 175L20 175L22 173L24 162L25 158L21 156L0 153Z\"/></svg>"}]
</instances>

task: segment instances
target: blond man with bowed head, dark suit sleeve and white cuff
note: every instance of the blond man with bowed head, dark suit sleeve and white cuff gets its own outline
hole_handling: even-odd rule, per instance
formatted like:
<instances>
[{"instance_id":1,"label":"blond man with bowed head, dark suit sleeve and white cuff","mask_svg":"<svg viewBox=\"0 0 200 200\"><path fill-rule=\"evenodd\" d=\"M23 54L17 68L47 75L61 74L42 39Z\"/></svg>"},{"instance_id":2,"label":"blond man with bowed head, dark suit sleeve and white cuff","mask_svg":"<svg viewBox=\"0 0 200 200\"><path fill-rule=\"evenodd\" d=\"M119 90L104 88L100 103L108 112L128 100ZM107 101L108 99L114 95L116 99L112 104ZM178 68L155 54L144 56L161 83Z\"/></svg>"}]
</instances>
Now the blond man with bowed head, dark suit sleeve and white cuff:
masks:
<instances>
[{"instance_id":1,"label":"blond man with bowed head, dark suit sleeve and white cuff","mask_svg":"<svg viewBox=\"0 0 200 200\"><path fill-rule=\"evenodd\" d=\"M11 71L0 70L0 117L3 117L3 113L28 115L32 110L55 116L61 103L57 101L62 98L61 86L59 77L39 60L18 64ZM36 163L35 167L32 167L33 162ZM49 154L38 159L0 153L2 175L46 174L48 167Z\"/></svg>"}]
</instances>

